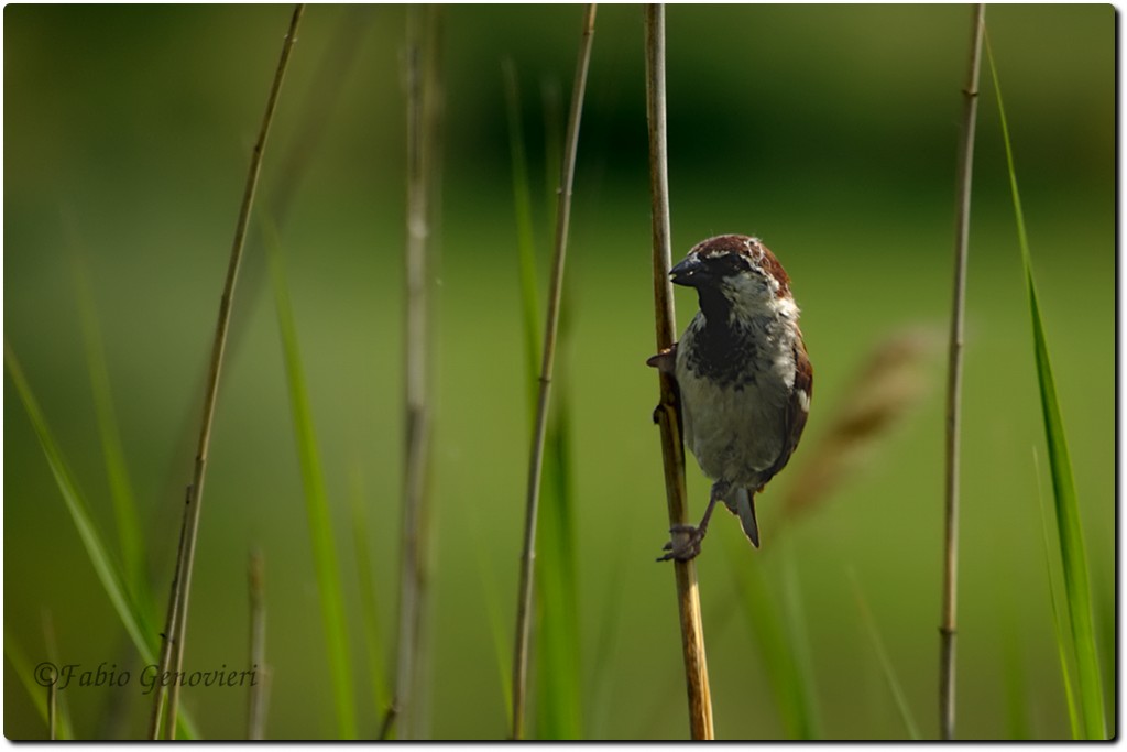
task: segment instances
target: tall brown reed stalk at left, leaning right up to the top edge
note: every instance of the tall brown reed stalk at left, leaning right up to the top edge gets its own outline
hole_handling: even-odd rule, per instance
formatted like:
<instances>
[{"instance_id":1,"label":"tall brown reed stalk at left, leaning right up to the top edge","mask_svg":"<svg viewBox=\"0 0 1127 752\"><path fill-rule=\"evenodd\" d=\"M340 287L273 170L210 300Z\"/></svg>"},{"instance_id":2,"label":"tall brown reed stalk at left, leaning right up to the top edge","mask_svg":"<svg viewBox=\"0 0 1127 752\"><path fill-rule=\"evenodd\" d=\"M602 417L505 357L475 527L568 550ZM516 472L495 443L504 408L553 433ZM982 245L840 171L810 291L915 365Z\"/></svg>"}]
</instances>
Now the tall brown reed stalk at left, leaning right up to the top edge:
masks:
<instances>
[{"instance_id":1,"label":"tall brown reed stalk at left, leaning right up to the top edge","mask_svg":"<svg viewBox=\"0 0 1127 752\"><path fill-rule=\"evenodd\" d=\"M258 140L255 142L251 153L250 167L247 171L247 183L242 194L242 204L239 209L238 222L236 223L231 258L227 269L227 281L223 286L223 297L220 299L219 320L215 324L215 338L212 345L211 365L207 371L207 387L204 392L203 421L199 426L195 470L192 477L192 485L188 486L185 528L181 531L181 547L177 557L176 575L172 580L172 598L168 609L168 620L165 626L161 662L158 666L159 675L166 675L168 671L179 673L184 667L188 594L192 590L192 567L195 560L196 538L199 531L199 504L203 498L207 451L211 445L212 423L215 417L219 377L223 365L223 352L227 347L227 333L231 324L231 304L234 299L234 285L239 275L239 264L242 260L242 248L246 244L247 228L250 223L250 210L254 206L255 193L258 188L258 176L263 166L263 152L266 149L266 139L269 134L270 123L274 120L274 110L277 107L282 82L285 79L285 71L290 63L290 53L298 38L298 27L301 23L303 10L303 5L298 5L294 8L293 16L290 19L290 28L282 43L282 55L278 60L277 70L274 73L274 82L270 86L270 94L266 101L266 112L263 115L263 123L258 131ZM167 738L174 738L176 735L176 714L179 693L179 682L172 682L171 689L168 690L168 714L163 726L163 735ZM156 740L160 733L161 704L165 700L165 689L160 688L153 695L153 713L149 727L149 738Z\"/></svg>"}]
</instances>

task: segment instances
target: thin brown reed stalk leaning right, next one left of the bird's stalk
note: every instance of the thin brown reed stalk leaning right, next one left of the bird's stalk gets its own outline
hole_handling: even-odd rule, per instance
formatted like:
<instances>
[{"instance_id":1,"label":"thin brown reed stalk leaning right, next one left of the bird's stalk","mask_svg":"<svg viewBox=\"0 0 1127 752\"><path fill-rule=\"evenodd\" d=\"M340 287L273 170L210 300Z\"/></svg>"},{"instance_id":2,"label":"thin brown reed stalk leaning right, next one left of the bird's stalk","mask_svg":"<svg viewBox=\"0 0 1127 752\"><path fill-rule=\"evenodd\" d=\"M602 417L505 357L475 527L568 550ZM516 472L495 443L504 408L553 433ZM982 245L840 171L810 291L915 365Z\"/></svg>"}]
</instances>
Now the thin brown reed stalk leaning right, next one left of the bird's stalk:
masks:
<instances>
[{"instance_id":1,"label":"thin brown reed stalk leaning right, next one left of the bird's stalk","mask_svg":"<svg viewBox=\"0 0 1127 752\"><path fill-rule=\"evenodd\" d=\"M564 141L564 162L556 213L556 251L548 293L548 322L544 326L544 356L540 368L540 392L536 400L536 423L529 460L529 488L524 515L524 550L521 555L521 586L516 605L516 640L513 651L513 738L524 738L524 708L527 702L529 634L532 620L532 584L534 582L536 511L540 503L540 477L544 461L544 437L548 432L548 407L551 397L552 369L556 363L556 335L559 329L560 299L564 291L564 265L567 257L568 224L571 215L571 185L575 179L575 157L579 144L579 122L587 88L587 69L595 34L595 3L587 6L579 42L579 60L571 89Z\"/></svg>"}]
</instances>

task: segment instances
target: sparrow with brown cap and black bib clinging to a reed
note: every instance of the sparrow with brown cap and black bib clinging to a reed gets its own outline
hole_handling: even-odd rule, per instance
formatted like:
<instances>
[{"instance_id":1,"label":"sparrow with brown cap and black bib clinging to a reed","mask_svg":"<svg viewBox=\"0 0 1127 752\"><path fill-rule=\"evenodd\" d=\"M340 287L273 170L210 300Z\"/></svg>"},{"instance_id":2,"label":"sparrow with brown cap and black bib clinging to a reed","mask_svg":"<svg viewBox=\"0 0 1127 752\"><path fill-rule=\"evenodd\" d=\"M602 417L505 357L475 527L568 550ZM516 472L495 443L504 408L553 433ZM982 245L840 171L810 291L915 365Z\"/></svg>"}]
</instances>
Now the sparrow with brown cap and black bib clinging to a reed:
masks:
<instances>
[{"instance_id":1,"label":"sparrow with brown cap and black bib clinging to a reed","mask_svg":"<svg viewBox=\"0 0 1127 752\"><path fill-rule=\"evenodd\" d=\"M695 528L671 530L667 559L700 554L717 502L739 516L758 547L755 494L798 445L810 412L814 372L798 306L779 259L757 238L721 235L693 247L669 277L696 289L700 311L681 340L647 361L681 391L685 442L712 480ZM680 542L676 533L685 533Z\"/></svg>"}]
</instances>

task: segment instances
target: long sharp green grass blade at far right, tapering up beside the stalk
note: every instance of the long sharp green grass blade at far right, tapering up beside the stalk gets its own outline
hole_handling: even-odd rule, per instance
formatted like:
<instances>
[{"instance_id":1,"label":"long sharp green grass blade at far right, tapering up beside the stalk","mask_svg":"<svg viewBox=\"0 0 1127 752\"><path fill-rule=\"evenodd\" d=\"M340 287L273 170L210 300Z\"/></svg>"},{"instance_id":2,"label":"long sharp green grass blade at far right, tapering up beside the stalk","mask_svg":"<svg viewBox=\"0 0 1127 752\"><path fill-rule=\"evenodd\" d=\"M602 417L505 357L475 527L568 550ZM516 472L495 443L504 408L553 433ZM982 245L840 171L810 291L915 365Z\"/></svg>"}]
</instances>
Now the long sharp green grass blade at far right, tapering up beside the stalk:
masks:
<instances>
[{"instance_id":1,"label":"long sharp green grass blade at far right, tapering up beside the stalk","mask_svg":"<svg viewBox=\"0 0 1127 752\"><path fill-rule=\"evenodd\" d=\"M1037 286L1033 282L1033 265L1029 253L1026 220L1021 211L1021 196L1018 192L1018 177L1014 170L1010 130L1002 104L1002 90L999 87L997 70L994 65L994 56L990 52L988 44L987 57L990 60L991 76L994 81L994 92L997 96L999 118L1002 125L1002 140L1005 144L1005 160L1010 175L1010 191L1013 197L1013 211L1018 223L1018 242L1021 246L1021 260L1024 266L1026 291L1028 293L1029 315L1032 324L1033 359L1037 364L1041 416L1045 421L1045 437L1049 452L1049 474L1053 478L1056 537L1064 572L1066 609L1072 626L1073 651L1076 656L1080 714L1083 719L1085 737L1102 740L1107 738L1103 688L1095 651L1095 630L1092 626L1092 596L1088 577L1088 559L1084 551L1083 530L1080 523L1080 503L1073 481L1072 461L1068 459L1068 442L1065 437L1064 419L1061 415L1061 405L1057 400L1056 384L1053 379L1053 365L1049 361L1048 342L1041 319L1040 304L1037 299Z\"/></svg>"}]
</instances>

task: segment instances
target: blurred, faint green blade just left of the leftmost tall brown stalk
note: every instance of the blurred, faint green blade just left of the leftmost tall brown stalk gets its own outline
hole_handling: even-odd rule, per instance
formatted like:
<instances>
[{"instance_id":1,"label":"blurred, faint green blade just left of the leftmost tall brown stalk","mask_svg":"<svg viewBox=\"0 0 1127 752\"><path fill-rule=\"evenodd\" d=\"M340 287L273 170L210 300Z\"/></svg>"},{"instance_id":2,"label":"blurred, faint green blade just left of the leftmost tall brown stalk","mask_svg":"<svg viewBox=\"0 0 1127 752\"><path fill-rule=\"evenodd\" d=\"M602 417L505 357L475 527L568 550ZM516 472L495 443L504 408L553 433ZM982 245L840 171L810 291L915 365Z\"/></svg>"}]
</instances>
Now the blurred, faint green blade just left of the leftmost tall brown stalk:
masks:
<instances>
[{"instance_id":1,"label":"blurred, faint green blade just left of the leftmost tall brown stalk","mask_svg":"<svg viewBox=\"0 0 1127 752\"><path fill-rule=\"evenodd\" d=\"M101 436L101 451L109 480L109 497L114 504L114 520L117 523L117 539L122 548L125 580L130 592L144 613L154 613L152 592L145 574L144 531L137 514L133 486L125 463L125 451L114 410L113 392L109 388L109 369L106 365L101 327L90 291L89 274L80 258L73 259L74 289L86 345L87 369L90 373L90 390L94 393L95 414Z\"/></svg>"}]
</instances>

